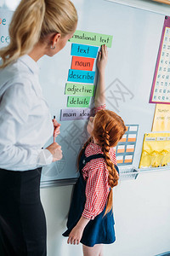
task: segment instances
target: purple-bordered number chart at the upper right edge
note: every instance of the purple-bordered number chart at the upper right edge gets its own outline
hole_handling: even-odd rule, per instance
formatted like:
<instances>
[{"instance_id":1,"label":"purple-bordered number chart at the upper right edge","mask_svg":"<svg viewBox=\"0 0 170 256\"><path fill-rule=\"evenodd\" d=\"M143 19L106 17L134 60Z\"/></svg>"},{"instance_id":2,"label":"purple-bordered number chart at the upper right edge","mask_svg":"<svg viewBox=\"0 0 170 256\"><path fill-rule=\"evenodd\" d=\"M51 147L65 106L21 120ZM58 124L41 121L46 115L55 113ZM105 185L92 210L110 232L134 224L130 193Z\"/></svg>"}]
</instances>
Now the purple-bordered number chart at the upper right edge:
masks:
<instances>
[{"instance_id":1,"label":"purple-bordered number chart at the upper right edge","mask_svg":"<svg viewBox=\"0 0 170 256\"><path fill-rule=\"evenodd\" d=\"M170 104L170 17L165 17L150 103Z\"/></svg>"}]
</instances>

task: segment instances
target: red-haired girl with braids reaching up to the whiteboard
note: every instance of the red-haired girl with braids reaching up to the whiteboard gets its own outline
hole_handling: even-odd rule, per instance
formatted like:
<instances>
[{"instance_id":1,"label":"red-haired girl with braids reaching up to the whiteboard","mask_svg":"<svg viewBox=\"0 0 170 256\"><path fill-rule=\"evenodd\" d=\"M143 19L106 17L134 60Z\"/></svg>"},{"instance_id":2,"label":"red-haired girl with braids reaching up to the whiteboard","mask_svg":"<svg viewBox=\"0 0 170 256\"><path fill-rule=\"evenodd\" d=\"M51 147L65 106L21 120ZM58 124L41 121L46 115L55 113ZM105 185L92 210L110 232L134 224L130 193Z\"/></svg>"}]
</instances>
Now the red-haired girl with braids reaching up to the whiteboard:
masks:
<instances>
[{"instance_id":1,"label":"red-haired girl with braids reaching up to the whiteboard","mask_svg":"<svg viewBox=\"0 0 170 256\"><path fill-rule=\"evenodd\" d=\"M99 79L94 98L96 112L88 121L90 138L79 155L80 177L74 189L67 221L68 243L82 242L84 256L102 256L102 244L115 241L112 188L118 183L113 147L126 131L123 120L105 109L107 47L101 46L97 67Z\"/></svg>"}]
</instances>

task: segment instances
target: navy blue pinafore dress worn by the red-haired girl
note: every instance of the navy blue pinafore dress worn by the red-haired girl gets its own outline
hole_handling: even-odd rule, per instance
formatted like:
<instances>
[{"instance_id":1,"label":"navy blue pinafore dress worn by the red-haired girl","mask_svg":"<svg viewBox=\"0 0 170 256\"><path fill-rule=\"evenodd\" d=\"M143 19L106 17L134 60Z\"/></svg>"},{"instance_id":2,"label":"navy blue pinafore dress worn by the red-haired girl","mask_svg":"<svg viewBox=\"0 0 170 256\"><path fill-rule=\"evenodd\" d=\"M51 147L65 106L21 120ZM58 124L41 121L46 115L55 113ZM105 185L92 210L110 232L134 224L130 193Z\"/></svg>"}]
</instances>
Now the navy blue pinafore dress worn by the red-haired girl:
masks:
<instances>
[{"instance_id":1,"label":"navy blue pinafore dress worn by the red-haired girl","mask_svg":"<svg viewBox=\"0 0 170 256\"><path fill-rule=\"evenodd\" d=\"M69 236L71 230L76 226L79 219L82 217L82 212L86 203L86 181L82 177L82 168L89 160L94 158L104 157L103 154L96 154L89 158L82 154L81 158L81 170L80 177L74 188L73 197L71 201L71 208L69 217L67 220L67 230L63 233L63 236ZM116 167L117 168L117 167ZM106 208L106 206L105 206ZM114 230L114 218L112 210L105 214L105 208L103 212L97 215L94 219L91 219L85 227L81 242L88 247L94 247L95 244L110 244L116 240ZM105 216L104 216L105 215Z\"/></svg>"}]
</instances>

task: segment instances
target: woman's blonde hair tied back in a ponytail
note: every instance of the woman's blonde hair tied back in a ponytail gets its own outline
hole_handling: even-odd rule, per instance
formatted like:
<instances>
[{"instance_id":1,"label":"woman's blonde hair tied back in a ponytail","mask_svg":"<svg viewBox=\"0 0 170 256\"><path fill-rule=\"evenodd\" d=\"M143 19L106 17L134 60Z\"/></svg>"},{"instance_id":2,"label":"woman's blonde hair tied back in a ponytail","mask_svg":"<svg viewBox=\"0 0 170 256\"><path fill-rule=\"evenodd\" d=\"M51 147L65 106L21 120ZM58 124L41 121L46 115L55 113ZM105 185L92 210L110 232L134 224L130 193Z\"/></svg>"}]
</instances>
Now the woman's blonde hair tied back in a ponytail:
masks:
<instances>
[{"instance_id":1,"label":"woman's blonde hair tied back in a ponytail","mask_svg":"<svg viewBox=\"0 0 170 256\"><path fill-rule=\"evenodd\" d=\"M21 0L9 25L10 44L0 49L0 68L28 54L48 34L59 32L65 37L76 26L77 10L70 0Z\"/></svg>"}]
</instances>

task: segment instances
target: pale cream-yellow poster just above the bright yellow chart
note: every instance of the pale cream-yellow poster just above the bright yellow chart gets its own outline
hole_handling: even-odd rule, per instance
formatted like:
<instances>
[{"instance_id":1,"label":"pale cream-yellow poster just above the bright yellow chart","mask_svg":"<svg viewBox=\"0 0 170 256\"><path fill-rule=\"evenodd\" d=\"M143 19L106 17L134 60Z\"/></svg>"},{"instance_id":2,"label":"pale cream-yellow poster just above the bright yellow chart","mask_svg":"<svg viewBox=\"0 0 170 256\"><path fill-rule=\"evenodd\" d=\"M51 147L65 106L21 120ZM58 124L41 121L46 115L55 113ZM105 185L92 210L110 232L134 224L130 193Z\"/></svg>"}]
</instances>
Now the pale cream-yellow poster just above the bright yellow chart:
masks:
<instances>
[{"instance_id":1,"label":"pale cream-yellow poster just above the bright yellow chart","mask_svg":"<svg viewBox=\"0 0 170 256\"><path fill-rule=\"evenodd\" d=\"M156 104L151 131L170 131L170 105Z\"/></svg>"}]
</instances>

